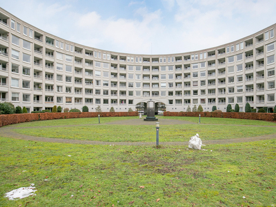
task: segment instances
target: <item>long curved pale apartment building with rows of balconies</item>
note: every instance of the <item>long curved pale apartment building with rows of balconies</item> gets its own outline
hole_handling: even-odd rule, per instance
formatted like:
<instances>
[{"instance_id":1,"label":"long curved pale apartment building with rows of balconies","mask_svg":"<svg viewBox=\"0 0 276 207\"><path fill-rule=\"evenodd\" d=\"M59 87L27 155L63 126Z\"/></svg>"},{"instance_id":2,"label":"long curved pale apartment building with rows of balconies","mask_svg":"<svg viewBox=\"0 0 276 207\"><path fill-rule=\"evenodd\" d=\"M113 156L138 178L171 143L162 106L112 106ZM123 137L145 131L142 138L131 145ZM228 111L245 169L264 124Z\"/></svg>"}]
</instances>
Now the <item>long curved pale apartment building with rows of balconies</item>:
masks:
<instances>
[{"instance_id":1,"label":"long curved pale apartment building with rows of balconies","mask_svg":"<svg viewBox=\"0 0 276 207\"><path fill-rule=\"evenodd\" d=\"M28 111L89 111L228 103L275 106L275 26L231 43L170 55L134 55L82 46L39 30L0 8L0 100Z\"/></svg>"}]
</instances>

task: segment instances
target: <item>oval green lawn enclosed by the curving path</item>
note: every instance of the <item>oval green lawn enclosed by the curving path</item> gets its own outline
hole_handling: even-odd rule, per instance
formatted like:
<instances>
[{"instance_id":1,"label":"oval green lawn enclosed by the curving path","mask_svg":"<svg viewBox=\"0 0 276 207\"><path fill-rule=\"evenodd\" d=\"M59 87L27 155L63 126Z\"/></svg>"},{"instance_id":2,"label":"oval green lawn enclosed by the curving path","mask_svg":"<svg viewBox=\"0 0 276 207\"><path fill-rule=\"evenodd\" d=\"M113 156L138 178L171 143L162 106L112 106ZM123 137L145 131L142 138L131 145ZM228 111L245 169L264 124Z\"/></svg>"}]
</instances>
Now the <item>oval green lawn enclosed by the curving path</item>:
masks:
<instances>
[{"instance_id":1,"label":"oval green lawn enclosed by the curving path","mask_svg":"<svg viewBox=\"0 0 276 207\"><path fill-rule=\"evenodd\" d=\"M64 120L67 121L67 120ZM92 125L55 128L14 129L25 135L59 139L79 139L92 141L155 141L155 126ZM164 125L159 130L160 141L188 141L196 133L202 140L235 139L276 133L274 127L262 126L220 126L204 124Z\"/></svg>"}]
</instances>

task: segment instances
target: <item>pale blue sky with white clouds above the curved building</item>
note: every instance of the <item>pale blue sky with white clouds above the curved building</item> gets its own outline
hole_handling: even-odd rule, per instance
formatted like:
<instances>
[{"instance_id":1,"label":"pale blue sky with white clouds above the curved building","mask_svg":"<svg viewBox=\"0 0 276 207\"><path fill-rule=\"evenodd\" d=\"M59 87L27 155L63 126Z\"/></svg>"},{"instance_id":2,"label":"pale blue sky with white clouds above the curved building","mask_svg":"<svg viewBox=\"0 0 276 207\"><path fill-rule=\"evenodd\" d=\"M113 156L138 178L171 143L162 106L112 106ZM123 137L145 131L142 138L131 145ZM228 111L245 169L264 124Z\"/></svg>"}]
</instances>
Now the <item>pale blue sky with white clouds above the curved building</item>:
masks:
<instances>
[{"instance_id":1,"label":"pale blue sky with white clouds above the curved building","mask_svg":"<svg viewBox=\"0 0 276 207\"><path fill-rule=\"evenodd\" d=\"M0 0L0 6L62 39L145 55L211 48L276 23L274 0Z\"/></svg>"}]
</instances>

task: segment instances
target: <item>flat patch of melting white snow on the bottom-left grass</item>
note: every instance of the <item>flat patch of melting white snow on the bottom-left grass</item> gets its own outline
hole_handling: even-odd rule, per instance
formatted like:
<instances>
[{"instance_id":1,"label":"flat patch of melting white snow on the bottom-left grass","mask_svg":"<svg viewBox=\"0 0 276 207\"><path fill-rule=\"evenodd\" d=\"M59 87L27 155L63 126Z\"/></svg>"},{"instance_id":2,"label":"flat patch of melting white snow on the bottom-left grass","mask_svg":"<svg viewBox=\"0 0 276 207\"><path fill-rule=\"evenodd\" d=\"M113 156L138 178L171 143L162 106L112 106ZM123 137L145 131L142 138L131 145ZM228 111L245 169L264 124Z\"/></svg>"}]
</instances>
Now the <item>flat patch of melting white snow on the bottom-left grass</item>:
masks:
<instances>
[{"instance_id":1,"label":"flat patch of melting white snow on the bottom-left grass","mask_svg":"<svg viewBox=\"0 0 276 207\"><path fill-rule=\"evenodd\" d=\"M30 195L35 195L34 184L30 184L30 187L17 188L6 193L5 197L8 197L9 200L23 199L24 197L29 197Z\"/></svg>"}]
</instances>

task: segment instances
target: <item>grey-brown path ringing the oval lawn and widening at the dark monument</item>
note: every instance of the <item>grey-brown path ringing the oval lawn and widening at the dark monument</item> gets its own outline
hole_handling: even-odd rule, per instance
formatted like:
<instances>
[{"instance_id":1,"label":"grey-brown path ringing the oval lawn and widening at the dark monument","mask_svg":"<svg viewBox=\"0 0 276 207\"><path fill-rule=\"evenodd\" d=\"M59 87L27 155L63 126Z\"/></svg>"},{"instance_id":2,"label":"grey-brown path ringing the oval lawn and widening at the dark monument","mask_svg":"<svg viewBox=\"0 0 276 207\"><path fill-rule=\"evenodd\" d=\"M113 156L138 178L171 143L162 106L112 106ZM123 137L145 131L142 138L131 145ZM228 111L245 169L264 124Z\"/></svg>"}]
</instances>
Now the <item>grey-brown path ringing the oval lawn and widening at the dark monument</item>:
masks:
<instances>
[{"instance_id":1,"label":"grey-brown path ringing the oval lawn and widening at the dark monument","mask_svg":"<svg viewBox=\"0 0 276 207\"><path fill-rule=\"evenodd\" d=\"M155 122L156 121L143 121L143 119L128 119L128 120L109 122L109 123L106 123L106 125L109 125L109 124L155 125ZM177 119L159 119L159 123L161 126L175 125L175 124L195 124L190 121L182 121ZM96 124L85 124L85 125L78 125L78 126L90 126L90 125L96 125ZM52 127L68 127L68 125L67 126L38 126L38 127L25 127L25 128L52 128ZM275 126L266 126L266 127L275 127ZM0 128L0 135L2 137L10 137L14 139L24 139L24 140L30 140L30 141L47 141L47 142L65 143L65 144L97 144L97 145L117 145L117 146L154 146L156 144L155 142L107 142L107 141L88 141L88 140L74 140L74 139L56 139L56 138L48 138L48 137L33 137L30 135L22 135L17 132L14 132L13 130L14 128L21 128L21 127L14 127L12 125L2 127ZM259 141L259 140L275 139L275 138L276 138L276 134L262 135L258 137L237 138L237 139L203 140L203 144L206 144L206 145L231 144L231 143ZM188 145L188 141L159 142L159 144L181 146L181 145Z\"/></svg>"}]
</instances>

